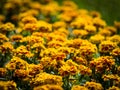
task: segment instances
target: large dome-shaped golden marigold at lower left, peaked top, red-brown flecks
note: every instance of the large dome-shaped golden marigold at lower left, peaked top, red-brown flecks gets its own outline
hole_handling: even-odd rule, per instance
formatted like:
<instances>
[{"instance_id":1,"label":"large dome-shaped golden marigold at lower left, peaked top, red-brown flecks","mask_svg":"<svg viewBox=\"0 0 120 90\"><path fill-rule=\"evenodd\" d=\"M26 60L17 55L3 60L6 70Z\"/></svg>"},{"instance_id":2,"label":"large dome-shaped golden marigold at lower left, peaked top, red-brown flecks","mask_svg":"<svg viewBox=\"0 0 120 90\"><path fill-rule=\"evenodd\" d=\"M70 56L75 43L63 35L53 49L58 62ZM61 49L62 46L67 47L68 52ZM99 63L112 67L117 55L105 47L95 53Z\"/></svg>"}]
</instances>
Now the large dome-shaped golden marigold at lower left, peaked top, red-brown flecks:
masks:
<instances>
[{"instance_id":1,"label":"large dome-shaped golden marigold at lower left, peaked top, red-brown flecks","mask_svg":"<svg viewBox=\"0 0 120 90\"><path fill-rule=\"evenodd\" d=\"M8 70L23 69L26 70L28 63L19 57L13 56L13 58L8 62L5 67Z\"/></svg>"}]
</instances>

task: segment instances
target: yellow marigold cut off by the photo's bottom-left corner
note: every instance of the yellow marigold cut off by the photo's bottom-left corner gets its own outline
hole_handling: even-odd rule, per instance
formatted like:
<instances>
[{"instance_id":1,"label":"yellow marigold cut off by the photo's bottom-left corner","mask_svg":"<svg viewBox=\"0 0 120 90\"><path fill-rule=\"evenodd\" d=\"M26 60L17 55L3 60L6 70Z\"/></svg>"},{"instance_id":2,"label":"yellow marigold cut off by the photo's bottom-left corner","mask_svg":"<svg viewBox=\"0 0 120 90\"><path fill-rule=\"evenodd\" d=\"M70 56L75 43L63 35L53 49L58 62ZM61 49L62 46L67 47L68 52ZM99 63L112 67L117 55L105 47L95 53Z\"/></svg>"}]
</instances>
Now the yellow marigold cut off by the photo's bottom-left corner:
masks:
<instances>
[{"instance_id":1,"label":"yellow marigold cut off by the photo's bottom-left corner","mask_svg":"<svg viewBox=\"0 0 120 90\"><path fill-rule=\"evenodd\" d=\"M13 81L0 81L1 90L18 90L17 84Z\"/></svg>"}]
</instances>

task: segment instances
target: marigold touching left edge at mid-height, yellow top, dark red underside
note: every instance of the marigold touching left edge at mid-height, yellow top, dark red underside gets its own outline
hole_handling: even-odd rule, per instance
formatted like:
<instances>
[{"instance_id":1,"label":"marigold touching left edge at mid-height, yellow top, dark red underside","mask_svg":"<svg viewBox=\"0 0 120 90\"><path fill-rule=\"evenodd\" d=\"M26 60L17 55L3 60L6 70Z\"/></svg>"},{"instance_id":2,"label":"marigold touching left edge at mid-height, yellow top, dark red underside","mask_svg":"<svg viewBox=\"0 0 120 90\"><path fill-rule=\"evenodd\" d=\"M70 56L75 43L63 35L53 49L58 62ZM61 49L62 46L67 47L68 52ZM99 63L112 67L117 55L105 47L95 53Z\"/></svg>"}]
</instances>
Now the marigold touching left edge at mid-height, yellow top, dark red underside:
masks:
<instances>
[{"instance_id":1,"label":"marigold touching left edge at mid-height, yellow top, dark red underside","mask_svg":"<svg viewBox=\"0 0 120 90\"><path fill-rule=\"evenodd\" d=\"M2 54L7 52L12 53L13 50L14 50L14 47L11 44L11 42L4 42L2 45L0 45L0 52L2 52Z\"/></svg>"}]
</instances>

